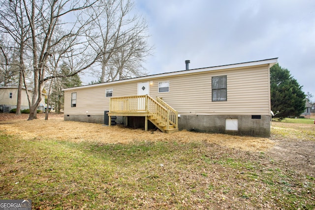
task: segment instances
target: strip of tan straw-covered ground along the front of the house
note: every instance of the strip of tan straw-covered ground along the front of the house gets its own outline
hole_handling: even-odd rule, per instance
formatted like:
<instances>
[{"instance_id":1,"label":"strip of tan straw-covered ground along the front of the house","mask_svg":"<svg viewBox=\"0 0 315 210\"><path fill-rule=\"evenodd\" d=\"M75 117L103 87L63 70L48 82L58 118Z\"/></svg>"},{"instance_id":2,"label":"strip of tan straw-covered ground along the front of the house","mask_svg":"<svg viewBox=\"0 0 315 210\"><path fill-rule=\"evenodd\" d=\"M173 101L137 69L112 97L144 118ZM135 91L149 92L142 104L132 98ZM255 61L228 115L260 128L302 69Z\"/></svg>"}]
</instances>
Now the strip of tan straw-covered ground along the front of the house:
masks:
<instances>
[{"instance_id":1,"label":"strip of tan straw-covered ground along the front of the house","mask_svg":"<svg viewBox=\"0 0 315 210\"><path fill-rule=\"evenodd\" d=\"M72 142L97 142L101 144L129 144L134 142L210 142L229 148L265 151L274 146L267 138L231 136L225 134L196 133L186 130L165 134L160 131L144 131L121 126L64 121L63 118L49 120L6 120L1 122L5 134L21 135L24 139L56 139Z\"/></svg>"}]
</instances>

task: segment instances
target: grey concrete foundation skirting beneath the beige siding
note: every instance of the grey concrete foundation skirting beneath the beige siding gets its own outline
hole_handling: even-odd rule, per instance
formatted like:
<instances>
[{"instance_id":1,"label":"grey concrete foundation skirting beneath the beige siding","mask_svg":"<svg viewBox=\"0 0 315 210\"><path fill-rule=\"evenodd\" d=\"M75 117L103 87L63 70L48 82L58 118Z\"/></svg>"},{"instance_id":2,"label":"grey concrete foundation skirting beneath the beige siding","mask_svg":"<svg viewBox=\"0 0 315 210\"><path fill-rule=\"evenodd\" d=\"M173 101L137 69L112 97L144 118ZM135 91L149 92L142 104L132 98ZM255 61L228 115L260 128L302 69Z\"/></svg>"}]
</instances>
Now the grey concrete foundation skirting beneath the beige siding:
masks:
<instances>
[{"instance_id":1,"label":"grey concrete foundation skirting beneath the beige siding","mask_svg":"<svg viewBox=\"0 0 315 210\"><path fill-rule=\"evenodd\" d=\"M120 117L117 120L119 124L123 123L133 128L144 128L144 119L144 117ZM103 124L104 115L64 115L64 120ZM151 127L150 124L150 128ZM268 138L270 137L270 116L181 115L178 118L178 128L179 130L185 129L195 132L225 133Z\"/></svg>"}]
</instances>

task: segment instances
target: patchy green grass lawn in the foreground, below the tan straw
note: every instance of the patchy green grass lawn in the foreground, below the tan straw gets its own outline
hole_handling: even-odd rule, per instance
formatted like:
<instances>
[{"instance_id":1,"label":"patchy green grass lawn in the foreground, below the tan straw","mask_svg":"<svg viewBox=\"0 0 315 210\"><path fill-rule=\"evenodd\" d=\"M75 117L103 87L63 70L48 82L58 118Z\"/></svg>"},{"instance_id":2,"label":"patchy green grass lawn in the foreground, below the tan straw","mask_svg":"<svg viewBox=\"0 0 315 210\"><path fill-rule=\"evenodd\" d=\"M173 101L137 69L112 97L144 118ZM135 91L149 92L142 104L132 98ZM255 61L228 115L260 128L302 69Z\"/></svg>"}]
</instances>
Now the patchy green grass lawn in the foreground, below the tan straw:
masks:
<instances>
[{"instance_id":1,"label":"patchy green grass lawn in the foreground, below the tan straw","mask_svg":"<svg viewBox=\"0 0 315 210\"><path fill-rule=\"evenodd\" d=\"M0 198L31 199L33 209L315 208L315 178L264 152L0 134Z\"/></svg>"}]
</instances>

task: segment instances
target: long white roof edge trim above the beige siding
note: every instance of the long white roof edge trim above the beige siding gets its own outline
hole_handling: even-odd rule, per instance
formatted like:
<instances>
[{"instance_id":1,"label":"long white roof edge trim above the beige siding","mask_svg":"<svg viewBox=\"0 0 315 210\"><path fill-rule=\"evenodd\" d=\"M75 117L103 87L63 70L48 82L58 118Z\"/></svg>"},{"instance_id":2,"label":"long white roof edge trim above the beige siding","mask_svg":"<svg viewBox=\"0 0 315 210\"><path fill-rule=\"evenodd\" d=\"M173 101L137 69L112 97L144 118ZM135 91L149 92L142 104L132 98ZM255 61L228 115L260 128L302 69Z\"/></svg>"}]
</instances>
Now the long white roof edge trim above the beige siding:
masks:
<instances>
[{"instance_id":1,"label":"long white roof edge trim above the beige siding","mask_svg":"<svg viewBox=\"0 0 315 210\"><path fill-rule=\"evenodd\" d=\"M256 61L249 61L249 62L242 62L242 63L234 63L234 64L227 64L227 65L219 65L219 66L212 66L212 67L203 67L203 68L196 68L196 69L189 69L189 70L182 70L182 71L153 74L153 75L135 77L135 78L130 78L130 79L117 80L117 81L112 81L112 82L105 82L105 83L98 83L98 84L93 84L93 85L85 85L85 86L79 86L79 87L73 87L73 88L66 88L66 89L62 89L62 90L75 90L75 89L82 89L82 88L92 88L92 87L99 87L99 86L104 86L104 85L113 85L113 84L124 83L124 82L132 82L132 81L137 81L137 80L144 80L144 79L148 80L148 79L154 79L154 78L158 78L158 77L167 77L167 76L199 73L199 72L205 72L205 71L221 70L221 69L226 69L226 68L249 67L249 66L264 65L264 64L271 64L271 66L273 66L277 62L278 62L278 58L256 60Z\"/></svg>"}]
</instances>

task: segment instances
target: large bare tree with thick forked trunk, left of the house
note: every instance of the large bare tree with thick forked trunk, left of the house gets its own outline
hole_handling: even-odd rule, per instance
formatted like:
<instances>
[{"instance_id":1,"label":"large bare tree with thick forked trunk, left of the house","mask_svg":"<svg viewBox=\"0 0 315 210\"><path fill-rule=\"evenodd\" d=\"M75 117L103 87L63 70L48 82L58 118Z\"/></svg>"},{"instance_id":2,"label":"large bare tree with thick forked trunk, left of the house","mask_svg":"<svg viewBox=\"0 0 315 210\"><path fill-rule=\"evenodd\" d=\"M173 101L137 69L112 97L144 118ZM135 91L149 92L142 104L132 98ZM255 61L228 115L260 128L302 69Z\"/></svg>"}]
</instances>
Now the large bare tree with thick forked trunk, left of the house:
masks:
<instances>
[{"instance_id":1,"label":"large bare tree with thick forked trunk, left of the house","mask_svg":"<svg viewBox=\"0 0 315 210\"><path fill-rule=\"evenodd\" d=\"M64 76L49 72L48 60L52 55L59 55L61 60L69 60L69 57L71 57L72 66L75 67L71 71L72 75L87 69L98 59L98 55L95 56L90 52L89 37L86 37L87 31L92 30L91 23L95 17L84 15L84 11L92 7L96 1L16 0L16 4L20 5L19 12L21 12L21 16L26 17L26 19L23 19L26 20L24 26L30 29L28 30L30 41L27 42L27 46L31 52L34 91L29 120L36 118L36 109L42 99L45 82L52 78ZM2 0L1 11L12 11L10 2L11 0ZM18 4L19 2L22 3ZM18 15L20 13L15 11L14 14ZM3 17L1 16L1 18ZM67 19L70 19L70 21ZM71 19L74 21L71 21ZM10 32L9 26L12 25L13 21L17 21L19 25L22 25L21 19L8 16L6 21L1 23L1 28Z\"/></svg>"}]
</instances>

